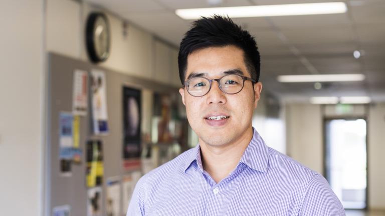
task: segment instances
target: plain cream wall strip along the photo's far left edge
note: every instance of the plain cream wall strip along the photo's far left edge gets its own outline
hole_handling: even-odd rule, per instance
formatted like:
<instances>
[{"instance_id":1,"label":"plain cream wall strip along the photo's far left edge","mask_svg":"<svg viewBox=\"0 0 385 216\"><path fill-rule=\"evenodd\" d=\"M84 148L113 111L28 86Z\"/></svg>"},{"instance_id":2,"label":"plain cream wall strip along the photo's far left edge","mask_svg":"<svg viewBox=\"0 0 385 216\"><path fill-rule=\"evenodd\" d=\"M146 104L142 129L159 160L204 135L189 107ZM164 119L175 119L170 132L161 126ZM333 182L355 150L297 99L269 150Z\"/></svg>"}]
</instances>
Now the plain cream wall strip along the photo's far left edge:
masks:
<instances>
[{"instance_id":1,"label":"plain cream wall strip along the photo's far left edge","mask_svg":"<svg viewBox=\"0 0 385 216\"><path fill-rule=\"evenodd\" d=\"M42 215L43 11L0 3L0 215Z\"/></svg>"}]
</instances>

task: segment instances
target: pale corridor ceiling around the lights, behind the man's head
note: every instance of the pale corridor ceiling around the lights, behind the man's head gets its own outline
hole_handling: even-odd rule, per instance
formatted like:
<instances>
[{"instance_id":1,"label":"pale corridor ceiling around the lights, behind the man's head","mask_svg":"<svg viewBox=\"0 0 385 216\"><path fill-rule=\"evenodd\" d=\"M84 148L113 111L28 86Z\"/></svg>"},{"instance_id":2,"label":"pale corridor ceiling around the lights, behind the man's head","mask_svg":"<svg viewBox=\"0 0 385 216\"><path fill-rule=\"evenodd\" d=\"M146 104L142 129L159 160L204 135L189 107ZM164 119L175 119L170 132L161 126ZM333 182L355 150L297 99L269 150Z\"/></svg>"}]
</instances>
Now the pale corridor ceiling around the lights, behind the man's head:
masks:
<instances>
[{"instance_id":1,"label":"pale corridor ceiling around the lights, behind the man's head","mask_svg":"<svg viewBox=\"0 0 385 216\"><path fill-rule=\"evenodd\" d=\"M344 1L346 13L235 18L257 39L264 88L285 100L309 96L371 96L385 101L385 0L87 0L178 46L190 21L177 8ZM364 55L353 57L360 49ZM363 73L361 82L279 83L281 74Z\"/></svg>"}]
</instances>

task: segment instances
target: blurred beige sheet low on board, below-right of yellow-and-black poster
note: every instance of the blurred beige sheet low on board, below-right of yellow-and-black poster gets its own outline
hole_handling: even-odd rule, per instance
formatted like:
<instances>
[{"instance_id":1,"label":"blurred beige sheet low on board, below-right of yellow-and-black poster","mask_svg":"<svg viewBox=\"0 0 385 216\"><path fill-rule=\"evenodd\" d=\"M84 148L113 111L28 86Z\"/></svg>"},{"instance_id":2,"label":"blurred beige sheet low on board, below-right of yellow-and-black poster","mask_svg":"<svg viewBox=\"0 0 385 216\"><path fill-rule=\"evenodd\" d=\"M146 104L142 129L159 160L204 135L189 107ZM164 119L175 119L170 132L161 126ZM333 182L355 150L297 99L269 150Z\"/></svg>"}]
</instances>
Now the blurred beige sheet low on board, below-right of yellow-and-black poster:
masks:
<instances>
[{"instance_id":1,"label":"blurred beige sheet low on board, below-right of yellow-and-black poster","mask_svg":"<svg viewBox=\"0 0 385 216\"><path fill-rule=\"evenodd\" d=\"M110 177L107 179L107 216L118 216L120 210L120 177Z\"/></svg>"}]
</instances>

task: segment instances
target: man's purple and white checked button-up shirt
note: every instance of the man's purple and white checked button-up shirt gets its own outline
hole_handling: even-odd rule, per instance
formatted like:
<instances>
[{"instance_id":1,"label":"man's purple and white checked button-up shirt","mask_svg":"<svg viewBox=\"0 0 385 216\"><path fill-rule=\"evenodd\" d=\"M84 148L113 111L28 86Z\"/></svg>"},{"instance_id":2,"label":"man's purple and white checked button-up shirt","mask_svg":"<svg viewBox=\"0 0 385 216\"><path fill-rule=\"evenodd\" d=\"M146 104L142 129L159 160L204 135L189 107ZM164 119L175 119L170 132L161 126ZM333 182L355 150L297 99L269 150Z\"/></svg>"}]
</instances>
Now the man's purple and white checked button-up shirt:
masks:
<instances>
[{"instance_id":1,"label":"man's purple and white checked button-up shirt","mask_svg":"<svg viewBox=\"0 0 385 216\"><path fill-rule=\"evenodd\" d=\"M127 216L345 215L321 174L253 130L237 167L219 183L203 169L198 144L140 178Z\"/></svg>"}]
</instances>

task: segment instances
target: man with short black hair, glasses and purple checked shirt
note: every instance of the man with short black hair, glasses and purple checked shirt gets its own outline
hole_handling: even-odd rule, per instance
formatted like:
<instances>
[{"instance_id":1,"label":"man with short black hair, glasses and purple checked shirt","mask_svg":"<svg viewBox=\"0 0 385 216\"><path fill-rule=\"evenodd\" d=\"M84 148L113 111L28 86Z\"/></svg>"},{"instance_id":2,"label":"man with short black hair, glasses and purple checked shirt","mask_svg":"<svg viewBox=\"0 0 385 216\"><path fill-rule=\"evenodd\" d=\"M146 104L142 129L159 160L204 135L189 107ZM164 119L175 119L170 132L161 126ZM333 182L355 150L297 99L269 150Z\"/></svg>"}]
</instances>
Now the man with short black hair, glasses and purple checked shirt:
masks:
<instances>
[{"instance_id":1,"label":"man with short black hair, glasses and purple checked shirt","mask_svg":"<svg viewBox=\"0 0 385 216\"><path fill-rule=\"evenodd\" d=\"M179 89L197 147L145 174L127 215L345 215L322 175L252 127L262 89L254 38L202 17L180 43Z\"/></svg>"}]
</instances>

